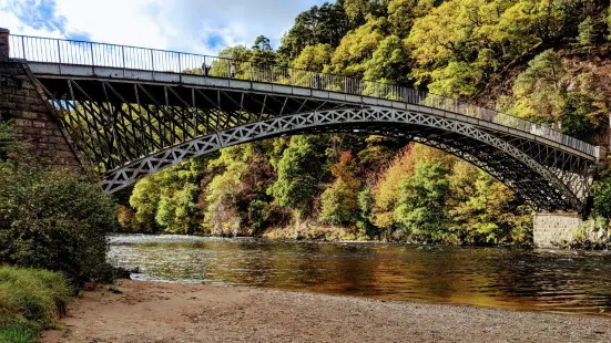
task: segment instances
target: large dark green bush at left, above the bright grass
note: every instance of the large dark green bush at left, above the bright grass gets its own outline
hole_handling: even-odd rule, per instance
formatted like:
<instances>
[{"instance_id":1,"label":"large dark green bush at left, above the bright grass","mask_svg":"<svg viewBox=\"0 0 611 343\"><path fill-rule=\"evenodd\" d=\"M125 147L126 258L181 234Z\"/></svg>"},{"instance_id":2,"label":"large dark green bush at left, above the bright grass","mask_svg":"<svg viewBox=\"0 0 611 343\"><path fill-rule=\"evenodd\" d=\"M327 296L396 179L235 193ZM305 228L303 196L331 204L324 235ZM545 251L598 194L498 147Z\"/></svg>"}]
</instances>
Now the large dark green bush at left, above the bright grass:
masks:
<instances>
[{"instance_id":1,"label":"large dark green bush at left, above the bright grass","mask_svg":"<svg viewBox=\"0 0 611 343\"><path fill-rule=\"evenodd\" d=\"M7 131L0 124L0 136L10 142L10 135L1 134ZM14 144L2 144L0 150L6 146ZM111 197L73 172L45 168L19 148L8 149L4 156L0 160L0 263L61 271L74 284L110 281L106 235L118 228Z\"/></svg>"}]
</instances>

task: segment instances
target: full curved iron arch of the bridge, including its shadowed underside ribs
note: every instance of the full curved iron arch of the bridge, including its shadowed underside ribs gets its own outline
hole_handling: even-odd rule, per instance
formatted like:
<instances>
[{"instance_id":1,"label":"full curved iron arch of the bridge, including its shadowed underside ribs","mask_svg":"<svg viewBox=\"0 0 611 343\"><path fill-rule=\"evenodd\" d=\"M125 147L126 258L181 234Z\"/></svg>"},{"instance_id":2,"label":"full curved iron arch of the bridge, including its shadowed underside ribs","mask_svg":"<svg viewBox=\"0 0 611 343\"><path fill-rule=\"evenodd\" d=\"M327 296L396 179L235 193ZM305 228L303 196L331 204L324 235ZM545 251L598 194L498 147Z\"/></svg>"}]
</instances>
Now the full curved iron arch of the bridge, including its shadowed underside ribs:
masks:
<instances>
[{"instance_id":1,"label":"full curved iron arch of the bridge, including its shadowed underside ribs","mask_svg":"<svg viewBox=\"0 0 611 343\"><path fill-rule=\"evenodd\" d=\"M118 191L147 175L223 147L283 135L329 132L403 137L445 150L491 174L536 209L580 206L571 189L548 168L475 125L383 107L299 113L203 135L111 170L103 187L109 193ZM483 152L481 145L488 150ZM515 168L513 173L508 173L508 168Z\"/></svg>"}]
</instances>

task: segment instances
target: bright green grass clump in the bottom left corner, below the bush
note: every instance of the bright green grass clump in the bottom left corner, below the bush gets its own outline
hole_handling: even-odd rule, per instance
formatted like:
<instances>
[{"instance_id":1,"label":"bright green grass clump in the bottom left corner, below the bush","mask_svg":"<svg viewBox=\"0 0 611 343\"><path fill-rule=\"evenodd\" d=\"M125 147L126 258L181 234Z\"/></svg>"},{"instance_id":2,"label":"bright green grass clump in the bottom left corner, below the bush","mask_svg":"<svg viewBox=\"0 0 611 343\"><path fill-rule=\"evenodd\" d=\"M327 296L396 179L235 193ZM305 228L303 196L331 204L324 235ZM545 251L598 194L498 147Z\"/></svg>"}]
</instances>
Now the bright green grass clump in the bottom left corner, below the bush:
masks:
<instances>
[{"instance_id":1,"label":"bright green grass clump in the bottom left corner, below the bush","mask_svg":"<svg viewBox=\"0 0 611 343\"><path fill-rule=\"evenodd\" d=\"M34 342L65 314L72 291L60 273L0 267L0 343Z\"/></svg>"}]
</instances>

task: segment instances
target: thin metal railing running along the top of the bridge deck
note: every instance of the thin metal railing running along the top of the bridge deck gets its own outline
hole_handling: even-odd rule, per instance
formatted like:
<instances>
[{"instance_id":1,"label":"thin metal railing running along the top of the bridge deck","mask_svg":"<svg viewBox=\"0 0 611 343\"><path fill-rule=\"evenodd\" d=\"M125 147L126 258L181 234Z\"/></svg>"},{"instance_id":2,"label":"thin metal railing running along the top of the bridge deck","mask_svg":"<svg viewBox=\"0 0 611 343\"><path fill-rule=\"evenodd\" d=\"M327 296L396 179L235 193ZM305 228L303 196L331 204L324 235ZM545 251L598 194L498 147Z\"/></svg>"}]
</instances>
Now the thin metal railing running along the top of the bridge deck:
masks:
<instances>
[{"instance_id":1,"label":"thin metal railing running along the top of the bridge deck","mask_svg":"<svg viewBox=\"0 0 611 343\"><path fill-rule=\"evenodd\" d=\"M200 74L340 92L424 105L528 132L599 157L599 147L516 116L420 90L294 67L106 43L10 35L10 56L31 62Z\"/></svg>"}]
</instances>

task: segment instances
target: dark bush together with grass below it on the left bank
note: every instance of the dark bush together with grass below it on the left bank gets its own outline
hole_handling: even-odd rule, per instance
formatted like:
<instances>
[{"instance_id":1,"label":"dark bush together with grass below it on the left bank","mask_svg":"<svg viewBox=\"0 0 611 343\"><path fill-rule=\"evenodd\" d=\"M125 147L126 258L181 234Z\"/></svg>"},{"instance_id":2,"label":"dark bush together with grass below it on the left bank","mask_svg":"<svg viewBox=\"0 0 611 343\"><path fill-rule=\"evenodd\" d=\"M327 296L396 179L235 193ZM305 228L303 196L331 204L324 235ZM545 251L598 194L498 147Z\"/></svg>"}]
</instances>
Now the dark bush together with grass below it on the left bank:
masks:
<instances>
[{"instance_id":1,"label":"dark bush together with grass below it on the left bank","mask_svg":"<svg viewBox=\"0 0 611 343\"><path fill-rule=\"evenodd\" d=\"M0 343L33 342L85 282L110 282L116 205L75 173L45 167L0 123Z\"/></svg>"}]
</instances>

